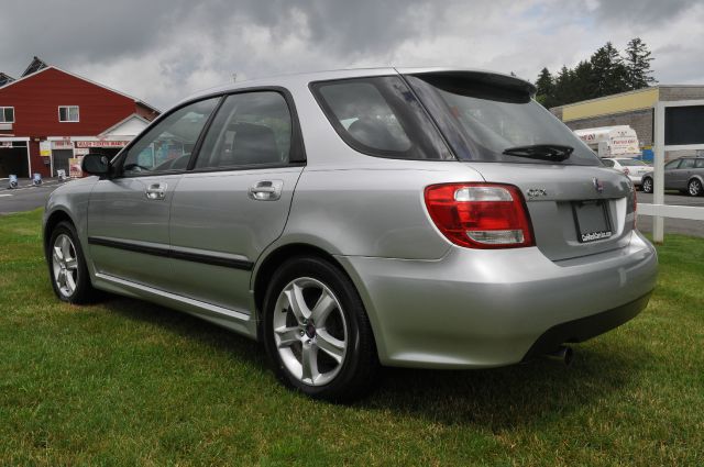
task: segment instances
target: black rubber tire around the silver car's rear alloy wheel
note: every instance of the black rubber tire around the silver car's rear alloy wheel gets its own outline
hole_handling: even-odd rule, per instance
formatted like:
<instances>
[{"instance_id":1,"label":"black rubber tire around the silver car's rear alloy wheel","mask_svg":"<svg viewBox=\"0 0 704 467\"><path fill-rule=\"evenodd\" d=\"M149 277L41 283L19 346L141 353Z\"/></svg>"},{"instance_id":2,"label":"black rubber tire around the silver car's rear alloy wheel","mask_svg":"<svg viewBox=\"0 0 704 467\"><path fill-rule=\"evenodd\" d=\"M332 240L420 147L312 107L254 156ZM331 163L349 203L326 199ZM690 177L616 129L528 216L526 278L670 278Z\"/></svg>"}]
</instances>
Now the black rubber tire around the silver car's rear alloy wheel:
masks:
<instances>
[{"instance_id":1,"label":"black rubber tire around the silver car's rear alloy wheel","mask_svg":"<svg viewBox=\"0 0 704 467\"><path fill-rule=\"evenodd\" d=\"M307 302L307 312L315 310L315 304L320 304L323 293L330 297L328 292L331 292L332 300L337 300L336 303L339 303L339 307L336 304L331 308L333 311L324 313L326 318L322 318L324 327L316 327L318 324L314 323L314 313L309 314L308 324L301 327L301 320L296 318L296 313L294 313L289 304L287 298L289 296L284 293L285 290L290 292L294 283L309 283L311 286L309 289L300 289L302 290L300 297L305 297L306 291L310 292L305 300ZM316 288L320 285L327 289L324 289L326 291L321 289L320 294L316 298ZM278 313L278 316L275 318L276 313ZM283 320L285 323L283 327L286 330L298 330L295 331L295 338L290 338L294 334L289 334L289 341L287 342L292 343L282 345L280 351L276 341L283 342L283 334L277 334L274 330L283 327L278 324L278 327L275 327L275 319L277 323ZM341 357L341 363L332 360L330 355L323 352L322 343L326 341L319 341L323 333L328 331L332 333L332 330L327 327L330 327L328 323L334 320L339 321L337 323L338 336L336 338L341 335L342 331L340 330L344 329L343 332L345 333L342 340L344 341L345 351ZM266 291L261 331L266 353L277 378L285 386L301 391L311 398L333 402L351 402L365 396L376 382L380 369L378 357L372 327L362 300L346 275L324 259L295 257L277 269ZM320 343L321 346L318 347L317 343ZM318 376L322 382L314 382L312 377L310 382L305 382L304 347L306 345L308 345L308 349L315 348L312 354L308 354L315 355L312 357L316 362L315 371L318 371L323 366L322 364L332 364L329 367L333 369L329 373L323 374L323 370L320 370ZM299 355L296 355L296 352ZM284 362L285 358L286 363ZM326 358L329 362L323 362ZM290 369L292 366L296 367L296 365L300 366L301 375L299 376L295 375L294 370ZM308 368L310 368L310 364ZM315 375L315 371L312 375ZM328 380L323 377L330 379Z\"/></svg>"}]
</instances>

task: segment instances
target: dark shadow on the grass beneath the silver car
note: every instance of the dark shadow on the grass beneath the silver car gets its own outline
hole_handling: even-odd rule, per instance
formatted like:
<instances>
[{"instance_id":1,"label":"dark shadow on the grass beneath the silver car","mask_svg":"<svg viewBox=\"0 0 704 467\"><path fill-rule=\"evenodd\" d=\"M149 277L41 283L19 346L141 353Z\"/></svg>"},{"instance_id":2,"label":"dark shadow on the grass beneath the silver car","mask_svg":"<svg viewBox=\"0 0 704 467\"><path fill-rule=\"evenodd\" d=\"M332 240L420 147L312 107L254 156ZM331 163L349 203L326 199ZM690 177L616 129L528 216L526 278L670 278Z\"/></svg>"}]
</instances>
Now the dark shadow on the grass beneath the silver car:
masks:
<instances>
[{"instance_id":1,"label":"dark shadow on the grass beneath the silver car","mask_svg":"<svg viewBox=\"0 0 704 467\"><path fill-rule=\"evenodd\" d=\"M150 322L265 369L264 348L215 324L139 300L111 298L108 310ZM623 340L596 337L573 346L570 367L536 359L484 370L385 368L378 387L353 407L420 418L444 425L502 431L549 421L624 392L648 354Z\"/></svg>"}]
</instances>

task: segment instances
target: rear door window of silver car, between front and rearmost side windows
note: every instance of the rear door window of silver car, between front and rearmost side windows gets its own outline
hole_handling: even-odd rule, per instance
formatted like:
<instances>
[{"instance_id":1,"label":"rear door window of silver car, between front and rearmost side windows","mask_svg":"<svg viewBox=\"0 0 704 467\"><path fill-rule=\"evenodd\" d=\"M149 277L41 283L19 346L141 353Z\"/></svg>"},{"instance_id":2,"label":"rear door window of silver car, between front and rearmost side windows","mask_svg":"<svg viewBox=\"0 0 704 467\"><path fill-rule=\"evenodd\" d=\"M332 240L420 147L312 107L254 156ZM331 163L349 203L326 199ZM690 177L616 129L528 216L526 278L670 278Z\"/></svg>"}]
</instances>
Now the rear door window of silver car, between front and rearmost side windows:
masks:
<instances>
[{"instance_id":1,"label":"rear door window of silver car, between front and rearmost side windows","mask_svg":"<svg viewBox=\"0 0 704 467\"><path fill-rule=\"evenodd\" d=\"M208 131L196 168L287 164L292 119L278 92L229 96Z\"/></svg>"}]
</instances>

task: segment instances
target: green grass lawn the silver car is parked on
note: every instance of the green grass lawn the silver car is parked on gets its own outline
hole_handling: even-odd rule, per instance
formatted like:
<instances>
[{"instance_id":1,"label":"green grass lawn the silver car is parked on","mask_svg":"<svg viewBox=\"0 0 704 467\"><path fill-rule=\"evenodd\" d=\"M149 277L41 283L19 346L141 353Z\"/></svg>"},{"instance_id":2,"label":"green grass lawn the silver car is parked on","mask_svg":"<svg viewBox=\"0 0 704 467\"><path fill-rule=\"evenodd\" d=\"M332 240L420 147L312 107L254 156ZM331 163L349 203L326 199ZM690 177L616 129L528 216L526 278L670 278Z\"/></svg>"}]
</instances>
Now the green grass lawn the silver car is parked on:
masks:
<instances>
[{"instance_id":1,"label":"green grass lawn the silver car is parked on","mask_svg":"<svg viewBox=\"0 0 704 467\"><path fill-rule=\"evenodd\" d=\"M704 465L702 238L667 237L648 309L569 368L389 369L339 407L195 318L59 302L40 218L0 218L0 465Z\"/></svg>"}]
</instances>

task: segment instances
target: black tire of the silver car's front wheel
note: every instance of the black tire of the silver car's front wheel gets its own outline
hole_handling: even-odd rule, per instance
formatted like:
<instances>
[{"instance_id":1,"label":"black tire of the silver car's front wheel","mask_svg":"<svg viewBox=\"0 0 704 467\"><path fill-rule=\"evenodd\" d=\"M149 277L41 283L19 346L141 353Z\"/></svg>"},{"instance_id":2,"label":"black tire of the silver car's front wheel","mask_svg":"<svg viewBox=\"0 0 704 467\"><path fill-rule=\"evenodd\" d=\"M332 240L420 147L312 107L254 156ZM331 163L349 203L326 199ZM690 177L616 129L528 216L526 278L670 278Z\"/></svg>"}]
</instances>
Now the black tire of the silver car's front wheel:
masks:
<instances>
[{"instance_id":1,"label":"black tire of the silver car's front wheel","mask_svg":"<svg viewBox=\"0 0 704 467\"><path fill-rule=\"evenodd\" d=\"M64 267L57 267L57 264L62 263L62 258L56 256L55 248L58 247L59 251L63 249L62 246L66 245L64 243L65 238L70 241L70 245L67 248L69 255L66 256L66 259L73 258L75 260L75 267L70 262L68 266L65 265ZM86 256L84 255L80 242L78 241L76 229L72 223L59 222L52 231L46 252L46 262L48 264L52 288L59 300L68 303L81 304L89 303L98 298L97 290L94 289L90 283L90 275L88 274L88 267L86 266ZM64 273L62 273L62 270ZM63 279L61 278L62 274L64 275ZM73 283L75 285L73 288L68 286L68 275L70 275ZM62 283L64 286L62 286Z\"/></svg>"}]
</instances>

